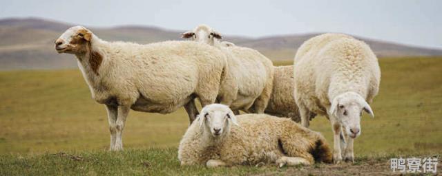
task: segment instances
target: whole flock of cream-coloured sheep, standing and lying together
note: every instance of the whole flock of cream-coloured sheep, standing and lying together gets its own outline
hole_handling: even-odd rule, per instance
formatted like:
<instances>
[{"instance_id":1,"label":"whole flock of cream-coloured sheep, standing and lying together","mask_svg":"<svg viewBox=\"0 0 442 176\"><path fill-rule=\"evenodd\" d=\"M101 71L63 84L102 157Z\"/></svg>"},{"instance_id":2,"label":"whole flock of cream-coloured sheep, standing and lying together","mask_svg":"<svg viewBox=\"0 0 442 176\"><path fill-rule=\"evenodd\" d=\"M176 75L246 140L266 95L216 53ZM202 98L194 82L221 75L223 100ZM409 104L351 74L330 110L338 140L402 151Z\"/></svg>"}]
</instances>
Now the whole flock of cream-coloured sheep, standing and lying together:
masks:
<instances>
[{"instance_id":1,"label":"whole flock of cream-coloured sheep, standing and lying together","mask_svg":"<svg viewBox=\"0 0 442 176\"><path fill-rule=\"evenodd\" d=\"M377 58L363 41L315 36L300 46L294 65L275 67L256 50L221 41L207 25L182 38L191 41L108 42L75 26L55 41L57 52L77 56L93 99L106 105L111 151L123 148L130 109L171 113L184 107L190 125L178 149L182 165L354 161L362 111L374 116L369 103L381 80ZM316 115L329 119L333 149L307 129Z\"/></svg>"}]
</instances>

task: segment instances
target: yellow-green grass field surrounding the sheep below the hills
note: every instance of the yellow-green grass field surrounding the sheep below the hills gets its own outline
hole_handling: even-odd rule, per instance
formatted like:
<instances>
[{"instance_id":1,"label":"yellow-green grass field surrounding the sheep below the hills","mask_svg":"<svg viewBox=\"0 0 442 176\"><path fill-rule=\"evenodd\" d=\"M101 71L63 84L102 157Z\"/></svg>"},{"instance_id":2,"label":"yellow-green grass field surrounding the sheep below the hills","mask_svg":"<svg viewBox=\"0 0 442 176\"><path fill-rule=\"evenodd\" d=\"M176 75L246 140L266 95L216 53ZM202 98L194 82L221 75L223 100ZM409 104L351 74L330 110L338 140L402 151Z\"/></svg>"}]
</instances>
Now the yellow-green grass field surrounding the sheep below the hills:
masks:
<instances>
[{"instance_id":1,"label":"yellow-green grass field surrounding the sheep below the hills","mask_svg":"<svg viewBox=\"0 0 442 176\"><path fill-rule=\"evenodd\" d=\"M441 155L442 58L381 58L380 64L375 118L363 117L363 133L354 146L358 162L352 167L374 159L387 168L390 156ZM90 98L78 69L0 72L0 83L0 175L277 174L303 169L180 168L176 147L188 125L184 109L167 115L131 111L124 129L126 151L109 153L106 111ZM311 129L332 143L325 118L315 118Z\"/></svg>"}]
</instances>

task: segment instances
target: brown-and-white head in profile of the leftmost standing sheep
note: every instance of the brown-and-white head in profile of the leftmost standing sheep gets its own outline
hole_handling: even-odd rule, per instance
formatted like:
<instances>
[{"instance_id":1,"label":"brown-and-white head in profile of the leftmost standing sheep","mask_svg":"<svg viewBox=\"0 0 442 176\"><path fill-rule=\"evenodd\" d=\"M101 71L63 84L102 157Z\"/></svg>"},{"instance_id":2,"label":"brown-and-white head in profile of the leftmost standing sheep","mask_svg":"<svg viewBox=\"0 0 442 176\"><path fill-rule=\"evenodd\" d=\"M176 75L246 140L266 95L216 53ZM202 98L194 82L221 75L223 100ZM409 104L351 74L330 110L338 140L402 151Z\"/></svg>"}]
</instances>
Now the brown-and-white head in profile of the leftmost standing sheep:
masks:
<instances>
[{"instance_id":1,"label":"brown-and-white head in profile of the leftmost standing sheep","mask_svg":"<svg viewBox=\"0 0 442 176\"><path fill-rule=\"evenodd\" d=\"M92 32L82 26L74 26L61 34L55 41L55 50L58 53L84 54L88 50L88 43L92 39Z\"/></svg>"}]
</instances>

